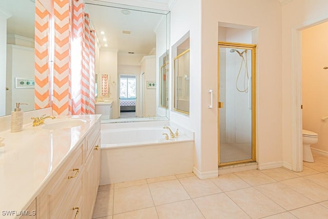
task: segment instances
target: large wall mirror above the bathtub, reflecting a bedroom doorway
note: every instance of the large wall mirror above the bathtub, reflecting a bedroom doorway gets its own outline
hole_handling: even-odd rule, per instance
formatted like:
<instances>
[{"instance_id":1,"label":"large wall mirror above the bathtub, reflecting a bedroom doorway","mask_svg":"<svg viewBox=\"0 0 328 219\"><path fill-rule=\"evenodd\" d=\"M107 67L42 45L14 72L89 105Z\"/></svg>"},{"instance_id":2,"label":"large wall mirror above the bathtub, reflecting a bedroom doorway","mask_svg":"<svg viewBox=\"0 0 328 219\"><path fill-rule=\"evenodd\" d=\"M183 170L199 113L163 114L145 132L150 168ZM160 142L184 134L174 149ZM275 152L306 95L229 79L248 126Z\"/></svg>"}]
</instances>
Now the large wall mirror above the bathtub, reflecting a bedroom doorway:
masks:
<instances>
[{"instance_id":1,"label":"large wall mirror above the bathtub, reflecting a bedroom doorway","mask_svg":"<svg viewBox=\"0 0 328 219\"><path fill-rule=\"evenodd\" d=\"M85 10L100 48L97 102L112 105L111 119L103 122L168 118L169 83L162 81L162 66L169 59L169 11L95 0L85 0ZM102 75L108 75L107 93Z\"/></svg>"}]
</instances>

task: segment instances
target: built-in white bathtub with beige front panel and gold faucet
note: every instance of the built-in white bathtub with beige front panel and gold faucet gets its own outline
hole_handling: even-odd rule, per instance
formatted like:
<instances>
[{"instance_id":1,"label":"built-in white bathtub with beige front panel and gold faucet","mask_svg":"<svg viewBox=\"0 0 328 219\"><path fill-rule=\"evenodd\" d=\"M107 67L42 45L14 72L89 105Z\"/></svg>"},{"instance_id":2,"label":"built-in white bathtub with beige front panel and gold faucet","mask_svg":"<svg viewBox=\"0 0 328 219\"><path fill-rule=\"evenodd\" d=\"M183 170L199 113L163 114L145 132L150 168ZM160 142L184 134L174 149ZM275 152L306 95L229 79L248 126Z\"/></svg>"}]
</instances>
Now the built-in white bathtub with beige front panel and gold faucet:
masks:
<instances>
[{"instance_id":1,"label":"built-in white bathtub with beige front panel and gold faucet","mask_svg":"<svg viewBox=\"0 0 328 219\"><path fill-rule=\"evenodd\" d=\"M168 121L101 124L100 185L192 172L193 133L180 127L177 138L166 140L165 125Z\"/></svg>"}]
</instances>

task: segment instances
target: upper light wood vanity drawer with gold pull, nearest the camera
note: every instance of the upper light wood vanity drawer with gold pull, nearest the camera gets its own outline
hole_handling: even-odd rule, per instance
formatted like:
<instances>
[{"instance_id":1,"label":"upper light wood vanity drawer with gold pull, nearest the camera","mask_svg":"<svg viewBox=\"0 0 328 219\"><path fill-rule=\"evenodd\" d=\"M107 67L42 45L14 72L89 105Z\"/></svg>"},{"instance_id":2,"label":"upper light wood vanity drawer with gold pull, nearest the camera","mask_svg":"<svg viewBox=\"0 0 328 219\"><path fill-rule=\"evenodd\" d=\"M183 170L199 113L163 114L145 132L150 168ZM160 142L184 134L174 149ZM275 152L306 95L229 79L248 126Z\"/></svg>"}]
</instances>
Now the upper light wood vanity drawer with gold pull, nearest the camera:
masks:
<instances>
[{"instance_id":1,"label":"upper light wood vanity drawer with gold pull, nearest the camera","mask_svg":"<svg viewBox=\"0 0 328 219\"><path fill-rule=\"evenodd\" d=\"M85 144L82 142L74 151L72 151L68 160L60 167L59 171L52 178L51 183L40 194L40 202L47 203L47 215L57 215L61 212L61 208L67 202L71 190L74 189L75 184L80 180L81 173L84 171L84 162L82 151ZM56 218L56 217L46 217Z\"/></svg>"}]
</instances>

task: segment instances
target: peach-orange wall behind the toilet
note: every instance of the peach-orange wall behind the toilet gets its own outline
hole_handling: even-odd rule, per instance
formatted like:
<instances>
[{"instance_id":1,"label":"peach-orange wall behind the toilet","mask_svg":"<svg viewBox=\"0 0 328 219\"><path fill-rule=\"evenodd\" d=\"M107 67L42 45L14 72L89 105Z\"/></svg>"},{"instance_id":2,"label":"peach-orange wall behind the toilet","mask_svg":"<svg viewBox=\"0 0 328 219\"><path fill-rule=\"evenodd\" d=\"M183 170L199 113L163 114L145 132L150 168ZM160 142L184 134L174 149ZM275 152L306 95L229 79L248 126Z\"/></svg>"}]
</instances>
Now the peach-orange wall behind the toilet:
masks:
<instances>
[{"instance_id":1,"label":"peach-orange wall behind the toilet","mask_svg":"<svg viewBox=\"0 0 328 219\"><path fill-rule=\"evenodd\" d=\"M319 142L311 147L328 153L328 22L302 31L303 129L318 133Z\"/></svg>"}]
</instances>

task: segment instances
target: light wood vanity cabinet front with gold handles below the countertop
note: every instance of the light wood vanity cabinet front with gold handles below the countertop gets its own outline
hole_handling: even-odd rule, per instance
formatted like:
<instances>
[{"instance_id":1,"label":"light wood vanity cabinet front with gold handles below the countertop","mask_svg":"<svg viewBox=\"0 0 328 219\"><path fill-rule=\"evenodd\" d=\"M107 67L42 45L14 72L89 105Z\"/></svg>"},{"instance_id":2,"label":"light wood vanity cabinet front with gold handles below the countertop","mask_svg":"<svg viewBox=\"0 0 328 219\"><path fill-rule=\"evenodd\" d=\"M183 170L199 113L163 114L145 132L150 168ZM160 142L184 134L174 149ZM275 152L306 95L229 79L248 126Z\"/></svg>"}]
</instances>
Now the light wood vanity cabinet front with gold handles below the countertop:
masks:
<instances>
[{"instance_id":1,"label":"light wood vanity cabinet front with gold handles below the countertop","mask_svg":"<svg viewBox=\"0 0 328 219\"><path fill-rule=\"evenodd\" d=\"M100 122L68 156L37 197L38 219L92 217L99 186Z\"/></svg>"}]
</instances>

